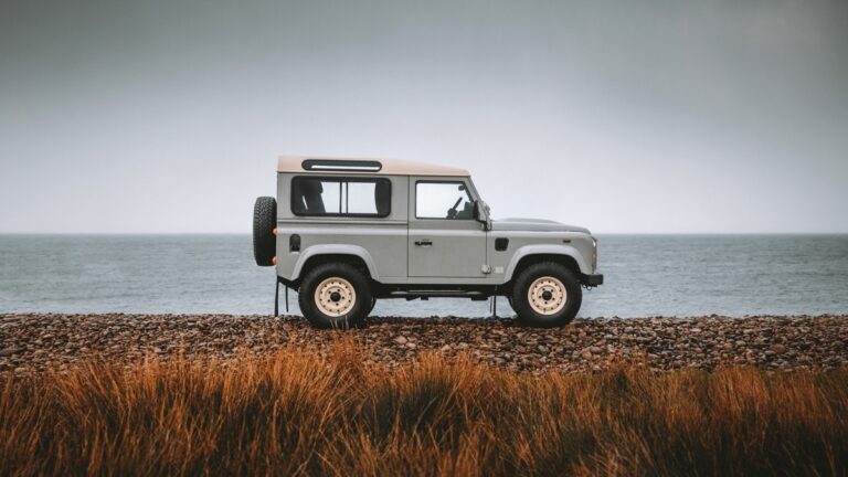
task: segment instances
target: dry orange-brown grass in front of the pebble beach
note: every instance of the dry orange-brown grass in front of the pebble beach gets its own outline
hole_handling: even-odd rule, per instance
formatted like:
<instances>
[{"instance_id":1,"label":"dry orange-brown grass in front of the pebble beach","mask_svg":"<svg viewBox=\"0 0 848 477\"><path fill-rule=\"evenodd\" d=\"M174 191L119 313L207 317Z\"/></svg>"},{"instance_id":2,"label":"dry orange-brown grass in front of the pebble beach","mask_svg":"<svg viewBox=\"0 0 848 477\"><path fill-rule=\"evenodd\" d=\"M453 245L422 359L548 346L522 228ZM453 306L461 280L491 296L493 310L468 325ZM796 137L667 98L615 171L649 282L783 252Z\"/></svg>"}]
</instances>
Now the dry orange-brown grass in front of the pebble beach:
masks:
<instances>
[{"instance_id":1,"label":"dry orange-brown grass in front of the pebble beach","mask_svg":"<svg viewBox=\"0 0 848 477\"><path fill-rule=\"evenodd\" d=\"M0 378L0 474L845 475L848 370L533 377L425 356Z\"/></svg>"}]
</instances>

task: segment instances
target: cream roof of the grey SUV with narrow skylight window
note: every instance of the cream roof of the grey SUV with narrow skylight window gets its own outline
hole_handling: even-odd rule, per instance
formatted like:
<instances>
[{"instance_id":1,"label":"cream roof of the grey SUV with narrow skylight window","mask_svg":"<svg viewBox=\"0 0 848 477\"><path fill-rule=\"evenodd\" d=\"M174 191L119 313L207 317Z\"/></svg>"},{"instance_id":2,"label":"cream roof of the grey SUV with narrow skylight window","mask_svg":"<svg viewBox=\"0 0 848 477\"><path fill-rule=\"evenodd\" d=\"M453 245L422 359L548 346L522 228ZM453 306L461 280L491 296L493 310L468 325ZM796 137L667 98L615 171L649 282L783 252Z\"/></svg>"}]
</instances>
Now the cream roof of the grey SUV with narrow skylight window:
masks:
<instances>
[{"instance_id":1,"label":"cream roof of the grey SUV with narrow skylight window","mask_svg":"<svg viewBox=\"0 0 848 477\"><path fill-rule=\"evenodd\" d=\"M385 176L470 176L467 170L400 159L354 159L312 156L280 156L277 172L368 173Z\"/></svg>"}]
</instances>

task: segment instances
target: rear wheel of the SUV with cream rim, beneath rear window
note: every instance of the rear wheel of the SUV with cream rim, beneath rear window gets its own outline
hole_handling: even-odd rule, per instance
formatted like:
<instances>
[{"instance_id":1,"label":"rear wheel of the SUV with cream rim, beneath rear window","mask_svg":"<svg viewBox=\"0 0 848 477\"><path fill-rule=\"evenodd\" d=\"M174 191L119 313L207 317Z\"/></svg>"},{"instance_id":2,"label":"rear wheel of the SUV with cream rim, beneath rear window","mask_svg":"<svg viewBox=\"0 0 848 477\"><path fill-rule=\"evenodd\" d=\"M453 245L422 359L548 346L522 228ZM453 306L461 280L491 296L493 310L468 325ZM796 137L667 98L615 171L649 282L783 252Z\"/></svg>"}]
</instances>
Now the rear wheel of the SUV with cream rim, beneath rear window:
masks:
<instances>
[{"instance_id":1,"label":"rear wheel of the SUV with cream rim, beneath rear window","mask_svg":"<svg viewBox=\"0 0 848 477\"><path fill-rule=\"evenodd\" d=\"M306 274L298 304L312 326L348 329L364 321L373 300L368 279L360 271L349 264L329 263Z\"/></svg>"}]
</instances>

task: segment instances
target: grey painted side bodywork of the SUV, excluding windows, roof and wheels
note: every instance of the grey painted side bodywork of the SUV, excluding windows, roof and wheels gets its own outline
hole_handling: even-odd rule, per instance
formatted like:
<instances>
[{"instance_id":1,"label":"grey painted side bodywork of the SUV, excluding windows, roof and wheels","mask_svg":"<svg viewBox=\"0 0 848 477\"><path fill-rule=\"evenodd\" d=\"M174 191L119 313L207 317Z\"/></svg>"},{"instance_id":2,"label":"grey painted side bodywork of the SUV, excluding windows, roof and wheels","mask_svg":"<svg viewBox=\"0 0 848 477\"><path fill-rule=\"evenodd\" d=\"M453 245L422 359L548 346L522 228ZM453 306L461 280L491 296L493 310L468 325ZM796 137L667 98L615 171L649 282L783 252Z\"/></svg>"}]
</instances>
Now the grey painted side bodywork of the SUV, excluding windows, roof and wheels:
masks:
<instances>
[{"instance_id":1,"label":"grey painted side bodywork of the SUV, excluding windows, roof and wheels","mask_svg":"<svg viewBox=\"0 0 848 477\"><path fill-rule=\"evenodd\" d=\"M329 172L322 174L336 176ZM544 230L541 221L537 220L533 223L540 225L536 229L515 230L518 226L500 224L501 227L485 231L483 224L476 221L416 220L415 181L432 178L375 176L392 183L389 215L350 218L296 216L292 212L290 184L297 176L301 174L277 174L276 271L279 277L292 282L301 277L304 264L309 257L319 254L360 257L371 277L386 285L501 285L513 278L521 258L533 254L570 256L581 273L595 273L592 269L595 252L592 237L561 224ZM358 173L357 177L368 174ZM473 198L479 199L474 182L467 177L439 180L462 180L469 187ZM299 239L299 250L292 250L293 235ZM417 250L415 241L423 239L433 242L432 247ZM508 241L505 251L496 250L498 239ZM412 256L413 251L417 256ZM486 273L484 265L488 266L489 273Z\"/></svg>"}]
</instances>

